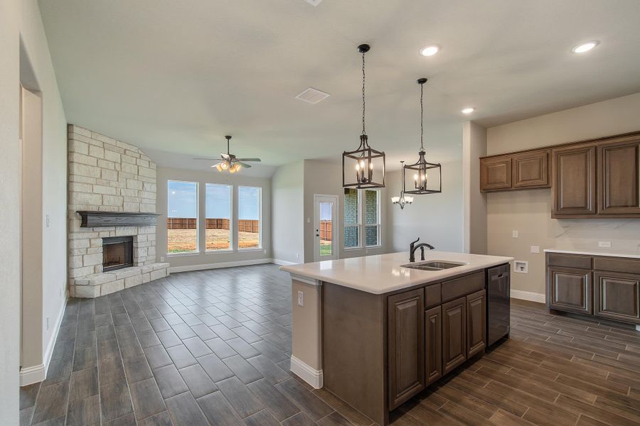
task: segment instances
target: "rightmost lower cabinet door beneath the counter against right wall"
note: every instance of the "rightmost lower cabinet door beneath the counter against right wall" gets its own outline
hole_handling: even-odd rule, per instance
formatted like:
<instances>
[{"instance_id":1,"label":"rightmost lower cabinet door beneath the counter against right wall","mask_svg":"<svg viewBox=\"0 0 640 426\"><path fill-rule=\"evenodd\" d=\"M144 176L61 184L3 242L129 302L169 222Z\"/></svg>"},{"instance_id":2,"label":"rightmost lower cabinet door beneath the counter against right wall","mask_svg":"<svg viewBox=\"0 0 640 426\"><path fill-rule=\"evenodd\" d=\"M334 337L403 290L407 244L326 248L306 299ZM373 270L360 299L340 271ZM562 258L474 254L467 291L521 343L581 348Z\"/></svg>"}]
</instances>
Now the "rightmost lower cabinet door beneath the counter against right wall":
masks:
<instances>
[{"instance_id":1,"label":"rightmost lower cabinet door beneath the counter against right wall","mask_svg":"<svg viewBox=\"0 0 640 426\"><path fill-rule=\"evenodd\" d=\"M640 324L640 275L594 272L593 313Z\"/></svg>"}]
</instances>

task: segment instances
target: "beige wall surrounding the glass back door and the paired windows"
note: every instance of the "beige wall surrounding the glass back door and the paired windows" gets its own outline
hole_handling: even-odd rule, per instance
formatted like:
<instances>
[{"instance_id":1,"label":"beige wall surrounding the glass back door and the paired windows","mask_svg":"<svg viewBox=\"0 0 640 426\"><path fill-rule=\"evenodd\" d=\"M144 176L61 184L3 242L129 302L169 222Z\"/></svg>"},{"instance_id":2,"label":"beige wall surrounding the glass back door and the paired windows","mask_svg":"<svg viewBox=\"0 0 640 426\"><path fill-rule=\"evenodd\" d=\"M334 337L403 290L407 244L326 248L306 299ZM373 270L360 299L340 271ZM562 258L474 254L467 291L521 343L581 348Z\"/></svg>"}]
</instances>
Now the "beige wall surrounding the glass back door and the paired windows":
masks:
<instances>
[{"instance_id":1,"label":"beige wall surrounding the glass back door and the paired windows","mask_svg":"<svg viewBox=\"0 0 640 426\"><path fill-rule=\"evenodd\" d=\"M388 176L388 175L387 175ZM387 208L389 200L388 187L380 189L380 224L382 231L380 235L380 247L369 247L362 249L344 249L343 244L343 206L344 189L342 187L342 163L338 161L324 160L304 160L304 261L314 261L314 194L336 195L338 197L338 258L351 258L358 256L368 256L373 254L387 253L390 241L388 233Z\"/></svg>"}]
</instances>

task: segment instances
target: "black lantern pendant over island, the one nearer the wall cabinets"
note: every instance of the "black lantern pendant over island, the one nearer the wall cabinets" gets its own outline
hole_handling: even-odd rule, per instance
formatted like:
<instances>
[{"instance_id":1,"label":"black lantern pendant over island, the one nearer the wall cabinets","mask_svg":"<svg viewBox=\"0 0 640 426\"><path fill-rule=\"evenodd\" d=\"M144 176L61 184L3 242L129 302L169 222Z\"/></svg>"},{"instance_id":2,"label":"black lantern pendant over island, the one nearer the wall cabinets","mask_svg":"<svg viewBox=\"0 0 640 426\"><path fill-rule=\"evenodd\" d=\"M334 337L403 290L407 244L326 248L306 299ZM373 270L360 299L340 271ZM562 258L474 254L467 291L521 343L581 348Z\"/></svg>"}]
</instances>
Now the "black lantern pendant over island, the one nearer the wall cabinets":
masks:
<instances>
[{"instance_id":1,"label":"black lantern pendant over island, the one nearer the wall cabinets","mask_svg":"<svg viewBox=\"0 0 640 426\"><path fill-rule=\"evenodd\" d=\"M406 194L434 194L442 192L442 166L438 163L429 163L425 159L425 109L422 104L424 84L426 78L417 80L420 84L420 151L418 151L418 160L413 164L407 164L402 168L402 187L405 188L405 170L408 170L413 176L413 186L415 189L407 191ZM435 181L435 182L434 182Z\"/></svg>"}]
</instances>

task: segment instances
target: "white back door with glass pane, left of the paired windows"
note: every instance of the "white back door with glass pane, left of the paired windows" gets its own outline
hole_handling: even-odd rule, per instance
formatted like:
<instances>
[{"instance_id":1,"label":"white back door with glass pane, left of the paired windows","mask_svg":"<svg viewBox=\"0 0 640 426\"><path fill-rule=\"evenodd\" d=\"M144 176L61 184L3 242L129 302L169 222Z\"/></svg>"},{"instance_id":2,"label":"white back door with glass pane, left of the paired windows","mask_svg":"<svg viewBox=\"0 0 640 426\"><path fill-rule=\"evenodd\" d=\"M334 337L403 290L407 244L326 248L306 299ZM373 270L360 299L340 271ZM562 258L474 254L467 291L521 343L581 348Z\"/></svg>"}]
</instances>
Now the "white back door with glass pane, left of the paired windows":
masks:
<instances>
[{"instance_id":1,"label":"white back door with glass pane, left of the paired windows","mask_svg":"<svg viewBox=\"0 0 640 426\"><path fill-rule=\"evenodd\" d=\"M314 195L314 261L338 258L338 197Z\"/></svg>"}]
</instances>

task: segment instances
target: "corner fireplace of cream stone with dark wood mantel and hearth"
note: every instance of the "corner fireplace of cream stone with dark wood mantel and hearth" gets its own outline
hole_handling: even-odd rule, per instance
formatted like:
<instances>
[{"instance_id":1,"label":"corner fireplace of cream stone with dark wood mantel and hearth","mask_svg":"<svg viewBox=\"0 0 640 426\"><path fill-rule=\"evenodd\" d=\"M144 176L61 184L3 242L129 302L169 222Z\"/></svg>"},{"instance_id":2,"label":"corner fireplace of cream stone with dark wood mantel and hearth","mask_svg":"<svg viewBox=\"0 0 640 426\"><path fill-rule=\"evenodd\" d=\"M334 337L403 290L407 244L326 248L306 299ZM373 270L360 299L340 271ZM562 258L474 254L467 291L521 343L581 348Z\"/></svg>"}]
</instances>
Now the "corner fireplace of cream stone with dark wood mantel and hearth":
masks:
<instances>
[{"instance_id":1,"label":"corner fireplace of cream stone with dark wood mantel and hearth","mask_svg":"<svg viewBox=\"0 0 640 426\"><path fill-rule=\"evenodd\" d=\"M156 165L136 146L68 127L68 267L72 297L164 278L156 262Z\"/></svg>"}]
</instances>

